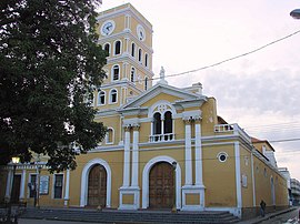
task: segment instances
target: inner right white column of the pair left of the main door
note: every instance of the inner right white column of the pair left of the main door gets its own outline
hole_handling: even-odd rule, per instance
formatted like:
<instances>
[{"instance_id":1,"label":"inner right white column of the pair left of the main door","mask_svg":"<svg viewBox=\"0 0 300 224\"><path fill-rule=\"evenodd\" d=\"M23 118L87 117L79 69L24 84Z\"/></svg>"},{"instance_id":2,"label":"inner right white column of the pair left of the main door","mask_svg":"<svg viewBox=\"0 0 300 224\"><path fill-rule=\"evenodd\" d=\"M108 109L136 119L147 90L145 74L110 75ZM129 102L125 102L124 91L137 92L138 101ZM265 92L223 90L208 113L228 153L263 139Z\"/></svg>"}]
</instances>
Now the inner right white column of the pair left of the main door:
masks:
<instances>
[{"instance_id":1,"label":"inner right white column of the pair left of the main door","mask_svg":"<svg viewBox=\"0 0 300 224\"><path fill-rule=\"evenodd\" d=\"M139 185L139 125L133 128L131 186Z\"/></svg>"}]
</instances>

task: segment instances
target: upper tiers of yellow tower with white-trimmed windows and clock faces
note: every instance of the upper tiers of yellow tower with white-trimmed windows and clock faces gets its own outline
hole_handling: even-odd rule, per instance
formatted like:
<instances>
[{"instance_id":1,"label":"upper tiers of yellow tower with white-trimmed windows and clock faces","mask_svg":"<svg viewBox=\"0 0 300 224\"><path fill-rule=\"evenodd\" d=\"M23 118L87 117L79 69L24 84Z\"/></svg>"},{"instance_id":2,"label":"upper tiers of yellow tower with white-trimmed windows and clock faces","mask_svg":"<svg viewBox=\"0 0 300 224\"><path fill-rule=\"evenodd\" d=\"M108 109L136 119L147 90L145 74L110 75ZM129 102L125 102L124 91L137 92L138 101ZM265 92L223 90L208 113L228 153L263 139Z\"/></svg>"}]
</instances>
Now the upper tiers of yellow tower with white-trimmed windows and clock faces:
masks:
<instances>
[{"instance_id":1,"label":"upper tiers of yellow tower with white-trimmed windows and clock faces","mask_svg":"<svg viewBox=\"0 0 300 224\"><path fill-rule=\"evenodd\" d=\"M114 110L152 86L152 24L130 3L97 18L99 44L108 52L107 79L96 92L98 110Z\"/></svg>"}]
</instances>

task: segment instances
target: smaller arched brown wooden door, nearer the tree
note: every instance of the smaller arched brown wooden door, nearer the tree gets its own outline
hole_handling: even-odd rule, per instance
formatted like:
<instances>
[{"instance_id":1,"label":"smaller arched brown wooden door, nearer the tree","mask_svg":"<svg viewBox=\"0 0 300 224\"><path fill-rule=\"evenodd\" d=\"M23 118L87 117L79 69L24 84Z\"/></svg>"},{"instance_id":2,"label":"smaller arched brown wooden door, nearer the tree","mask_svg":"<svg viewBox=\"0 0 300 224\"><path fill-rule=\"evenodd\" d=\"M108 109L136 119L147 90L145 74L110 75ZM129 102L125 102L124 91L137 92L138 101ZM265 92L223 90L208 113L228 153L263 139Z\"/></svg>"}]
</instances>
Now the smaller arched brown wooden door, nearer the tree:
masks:
<instances>
[{"instance_id":1,"label":"smaller arched brown wooden door, nearer the tree","mask_svg":"<svg viewBox=\"0 0 300 224\"><path fill-rule=\"evenodd\" d=\"M101 206L107 204L107 171L104 166L97 164L89 173L88 206Z\"/></svg>"}]
</instances>

